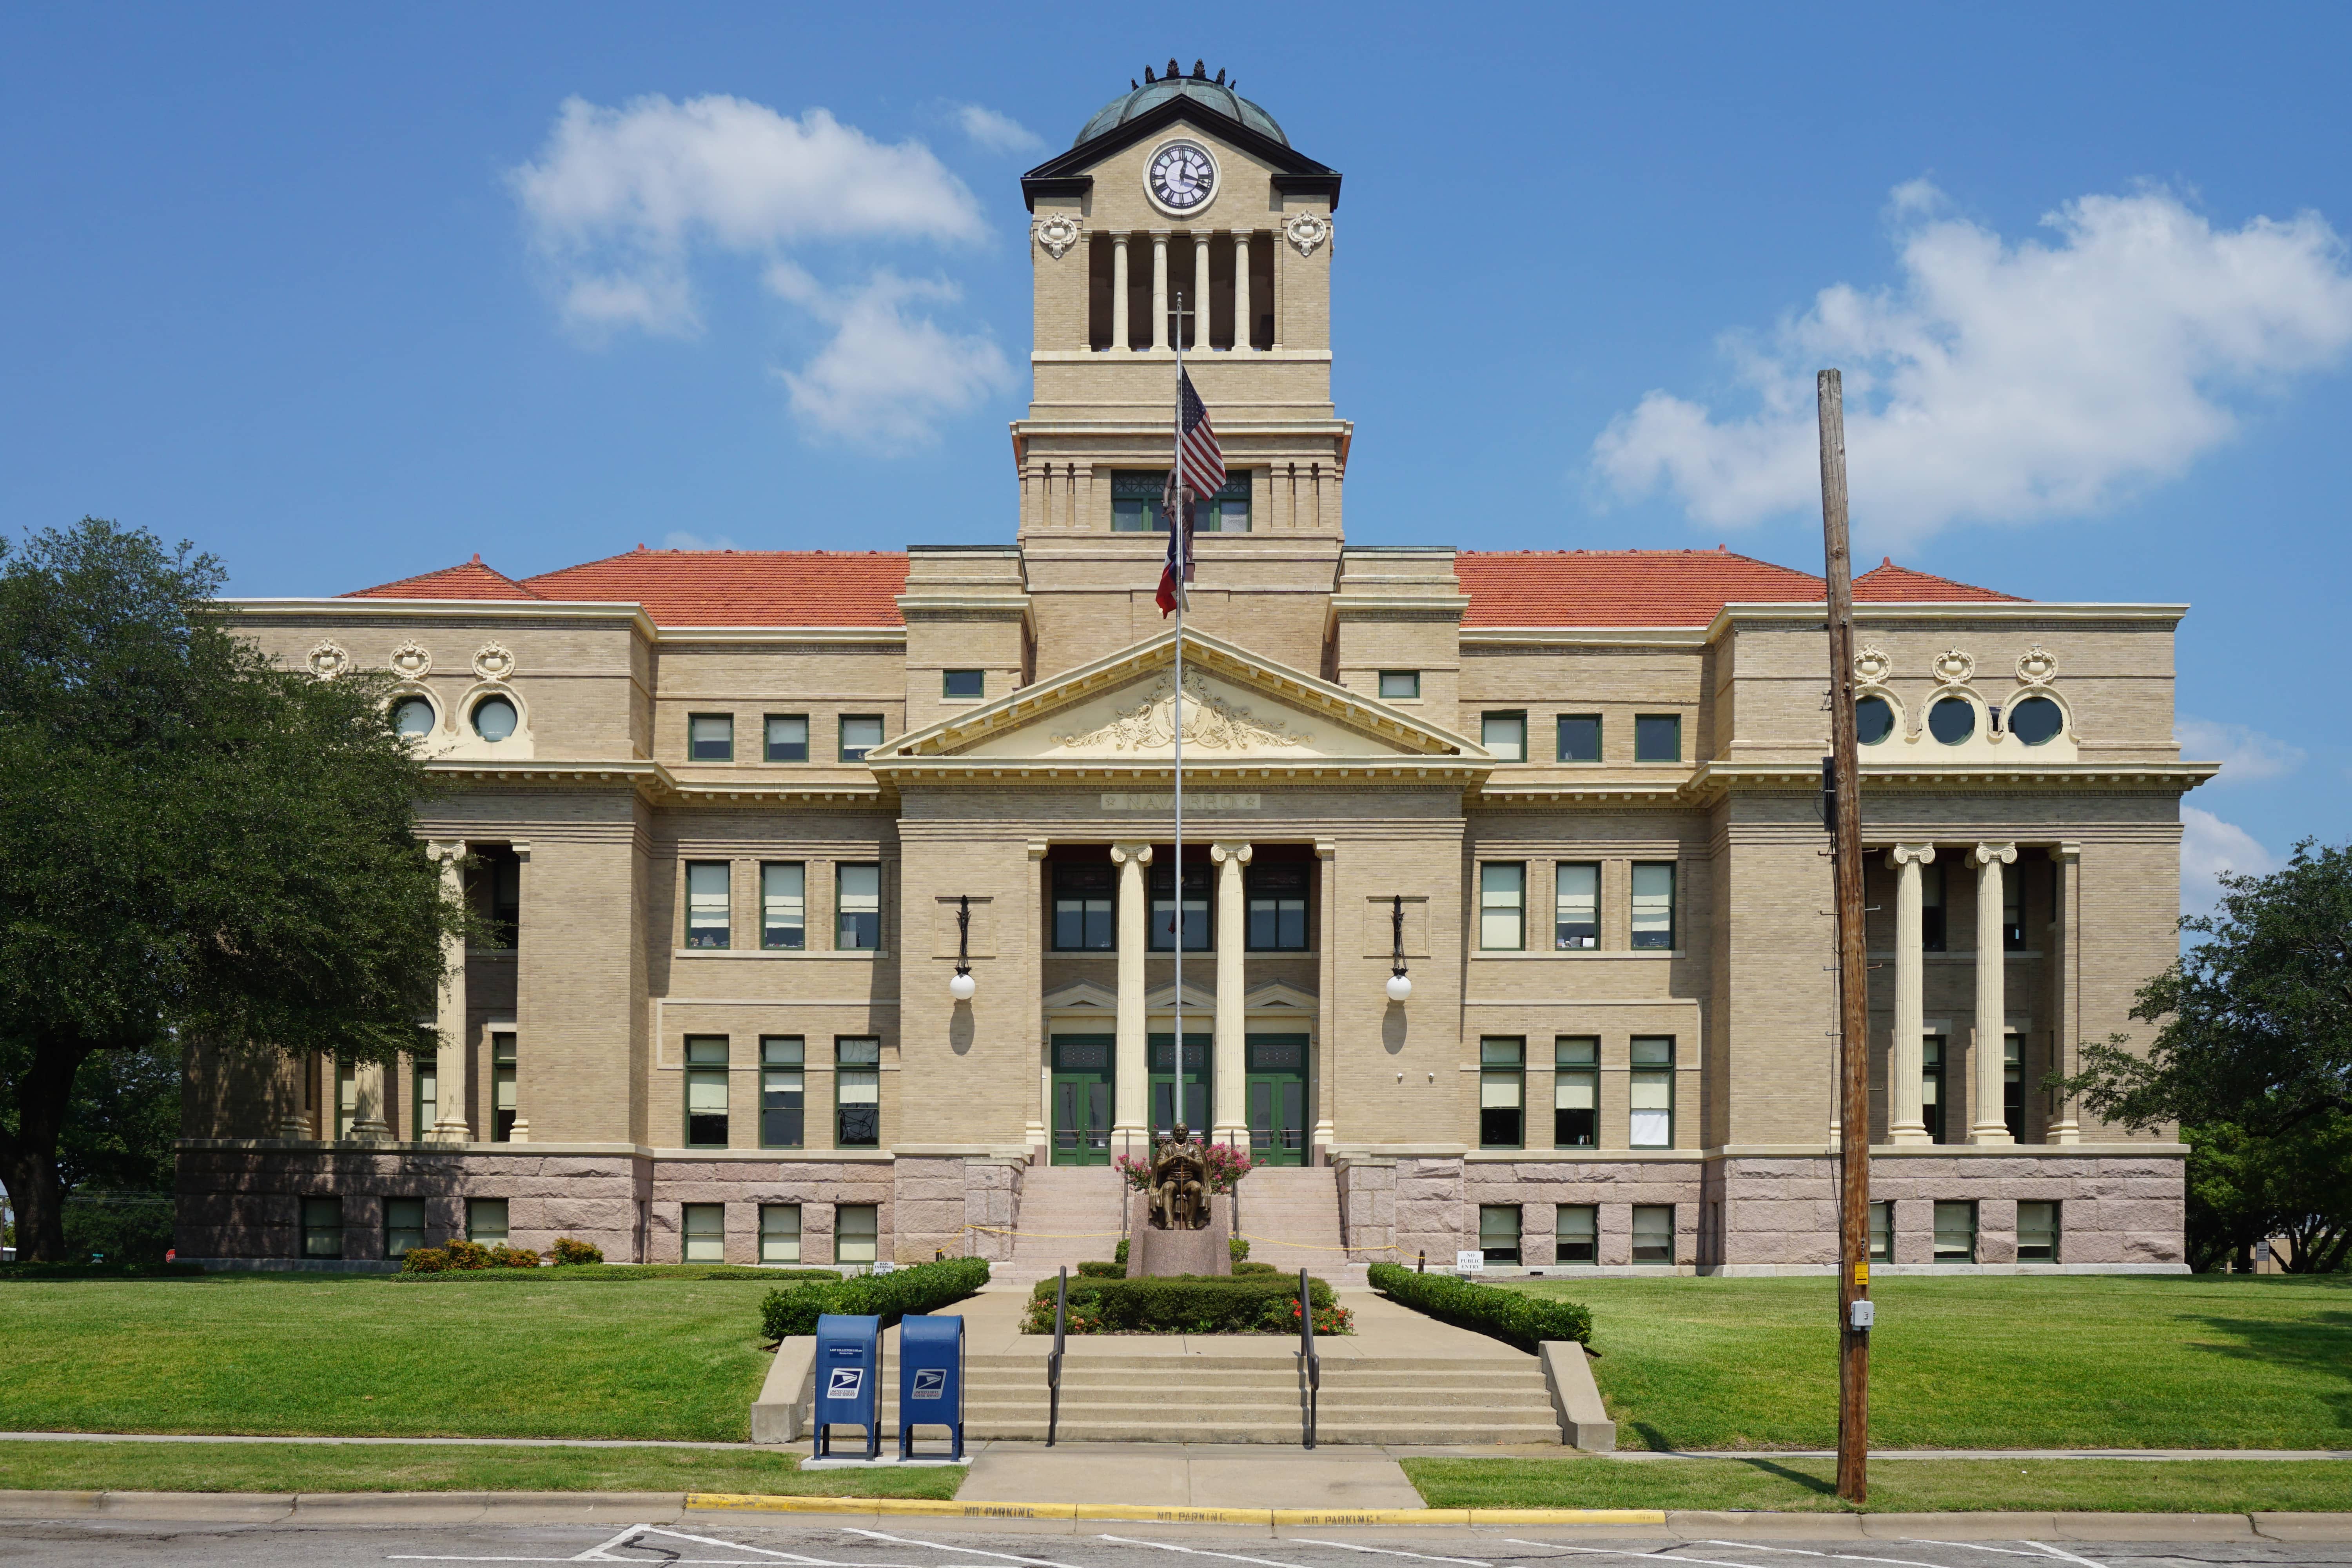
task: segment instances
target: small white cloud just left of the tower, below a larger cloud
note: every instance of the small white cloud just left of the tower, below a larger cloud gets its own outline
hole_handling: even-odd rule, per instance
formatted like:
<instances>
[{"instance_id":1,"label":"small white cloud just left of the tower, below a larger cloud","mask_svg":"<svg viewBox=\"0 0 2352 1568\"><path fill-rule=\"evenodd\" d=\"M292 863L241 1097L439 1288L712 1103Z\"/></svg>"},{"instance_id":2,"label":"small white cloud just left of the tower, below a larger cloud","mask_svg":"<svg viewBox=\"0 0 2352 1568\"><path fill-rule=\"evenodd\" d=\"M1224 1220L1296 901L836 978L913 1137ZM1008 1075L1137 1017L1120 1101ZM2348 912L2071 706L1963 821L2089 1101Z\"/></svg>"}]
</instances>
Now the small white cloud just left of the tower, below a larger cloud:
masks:
<instances>
[{"instance_id":1,"label":"small white cloud just left of the tower, below a larger cloud","mask_svg":"<svg viewBox=\"0 0 2352 1568\"><path fill-rule=\"evenodd\" d=\"M767 284L833 322L833 341L797 371L776 371L793 411L826 435L903 449L934 440L934 421L962 414L1014 383L1004 355L985 336L946 331L924 303L953 303L960 289L875 273L851 289L826 289L790 263Z\"/></svg>"}]
</instances>

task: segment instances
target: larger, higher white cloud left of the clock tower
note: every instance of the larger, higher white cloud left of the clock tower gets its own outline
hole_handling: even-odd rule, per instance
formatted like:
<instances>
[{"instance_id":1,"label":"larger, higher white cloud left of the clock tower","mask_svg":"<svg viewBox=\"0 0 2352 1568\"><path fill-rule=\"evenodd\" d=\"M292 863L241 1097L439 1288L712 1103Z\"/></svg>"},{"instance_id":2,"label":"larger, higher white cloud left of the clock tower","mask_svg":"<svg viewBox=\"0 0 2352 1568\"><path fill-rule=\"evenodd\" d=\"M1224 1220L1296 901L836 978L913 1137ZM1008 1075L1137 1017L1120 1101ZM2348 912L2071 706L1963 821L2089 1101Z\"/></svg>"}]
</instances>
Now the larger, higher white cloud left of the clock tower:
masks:
<instances>
[{"instance_id":1,"label":"larger, higher white cloud left of the clock tower","mask_svg":"<svg viewBox=\"0 0 2352 1568\"><path fill-rule=\"evenodd\" d=\"M701 331L696 249L985 235L971 190L920 141L889 146L823 108L795 120L724 94L567 99L539 160L508 179L564 317L588 331Z\"/></svg>"}]
</instances>

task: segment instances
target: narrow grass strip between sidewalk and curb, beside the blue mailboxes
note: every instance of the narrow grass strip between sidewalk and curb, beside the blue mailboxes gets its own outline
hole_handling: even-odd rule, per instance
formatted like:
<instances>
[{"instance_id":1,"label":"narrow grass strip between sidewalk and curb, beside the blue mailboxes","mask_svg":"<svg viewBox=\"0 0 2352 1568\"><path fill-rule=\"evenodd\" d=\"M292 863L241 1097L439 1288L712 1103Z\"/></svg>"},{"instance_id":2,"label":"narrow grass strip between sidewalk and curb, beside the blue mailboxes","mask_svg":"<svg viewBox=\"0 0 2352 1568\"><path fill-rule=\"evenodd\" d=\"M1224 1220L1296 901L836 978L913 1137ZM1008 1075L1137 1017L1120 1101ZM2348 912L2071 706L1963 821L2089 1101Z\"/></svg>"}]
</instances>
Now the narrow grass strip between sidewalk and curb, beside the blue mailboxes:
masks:
<instances>
[{"instance_id":1,"label":"narrow grass strip between sidewalk and curb, beside the blue mailboxes","mask_svg":"<svg viewBox=\"0 0 2352 1568\"><path fill-rule=\"evenodd\" d=\"M927 1448L941 1448L929 1434ZM369 1443L0 1443L0 1490L125 1493L769 1493L953 1497L962 1469L797 1469L708 1448L416 1448Z\"/></svg>"}]
</instances>

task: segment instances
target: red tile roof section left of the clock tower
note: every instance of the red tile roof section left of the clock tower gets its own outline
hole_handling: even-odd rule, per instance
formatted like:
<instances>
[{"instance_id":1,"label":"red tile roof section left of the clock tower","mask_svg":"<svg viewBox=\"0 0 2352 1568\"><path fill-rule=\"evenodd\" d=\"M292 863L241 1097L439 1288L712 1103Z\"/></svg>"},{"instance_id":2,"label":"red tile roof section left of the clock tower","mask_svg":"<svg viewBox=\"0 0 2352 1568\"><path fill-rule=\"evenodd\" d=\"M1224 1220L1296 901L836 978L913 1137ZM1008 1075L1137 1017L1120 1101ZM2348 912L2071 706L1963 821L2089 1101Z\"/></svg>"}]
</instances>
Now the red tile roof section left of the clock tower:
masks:
<instances>
[{"instance_id":1,"label":"red tile roof section left of the clock tower","mask_svg":"<svg viewBox=\"0 0 2352 1568\"><path fill-rule=\"evenodd\" d=\"M654 625L903 625L903 550L647 550L527 578L541 599L642 604Z\"/></svg>"}]
</instances>

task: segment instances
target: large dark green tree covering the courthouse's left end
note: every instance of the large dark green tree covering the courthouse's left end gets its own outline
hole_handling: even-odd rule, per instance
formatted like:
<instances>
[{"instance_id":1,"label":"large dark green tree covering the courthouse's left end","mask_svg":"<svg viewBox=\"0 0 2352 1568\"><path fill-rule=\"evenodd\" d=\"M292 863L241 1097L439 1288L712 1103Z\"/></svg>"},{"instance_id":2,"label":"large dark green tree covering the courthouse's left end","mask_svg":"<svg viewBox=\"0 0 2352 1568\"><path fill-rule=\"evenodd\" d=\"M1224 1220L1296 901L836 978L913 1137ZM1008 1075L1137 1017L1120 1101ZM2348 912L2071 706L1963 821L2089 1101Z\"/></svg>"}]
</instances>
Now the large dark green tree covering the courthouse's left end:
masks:
<instances>
[{"instance_id":1,"label":"large dark green tree covering the courthouse's left end","mask_svg":"<svg viewBox=\"0 0 2352 1568\"><path fill-rule=\"evenodd\" d=\"M473 924L412 830L430 780L386 717L390 677L275 668L221 581L193 545L92 517L0 541L0 1182L21 1258L61 1255L64 1185L111 1157L66 1126L94 1058L101 1095L183 1041L388 1063Z\"/></svg>"}]
</instances>

